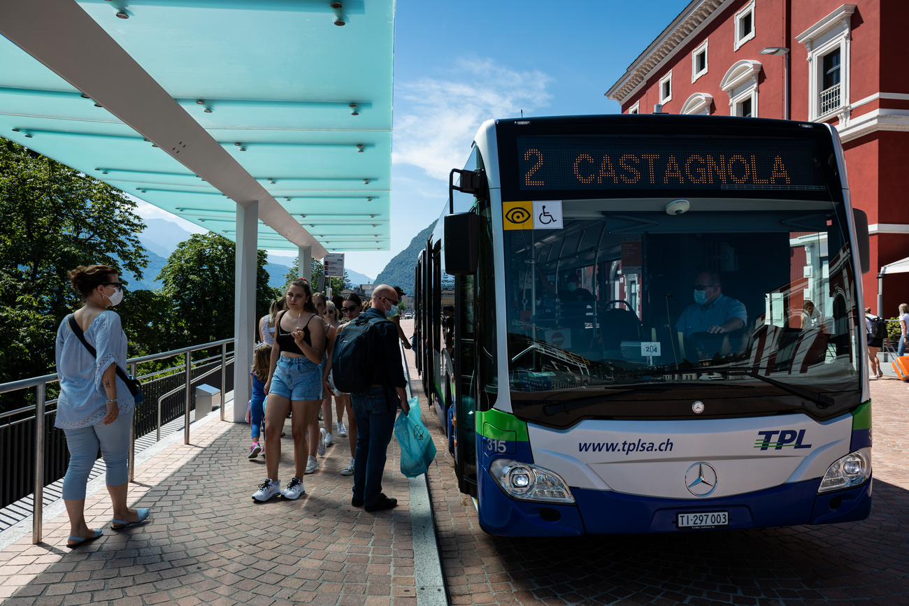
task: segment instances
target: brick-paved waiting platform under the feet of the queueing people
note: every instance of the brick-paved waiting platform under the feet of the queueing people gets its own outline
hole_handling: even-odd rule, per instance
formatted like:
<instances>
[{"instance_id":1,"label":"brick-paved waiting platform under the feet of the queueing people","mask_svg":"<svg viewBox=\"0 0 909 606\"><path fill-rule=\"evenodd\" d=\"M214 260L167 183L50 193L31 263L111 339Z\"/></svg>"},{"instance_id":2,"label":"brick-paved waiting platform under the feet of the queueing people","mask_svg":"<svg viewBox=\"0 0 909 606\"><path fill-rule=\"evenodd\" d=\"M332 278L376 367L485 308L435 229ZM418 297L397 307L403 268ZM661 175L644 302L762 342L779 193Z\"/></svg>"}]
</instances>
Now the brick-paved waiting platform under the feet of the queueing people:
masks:
<instances>
[{"instance_id":1,"label":"brick-paved waiting platform under the feet of the queueing people","mask_svg":"<svg viewBox=\"0 0 909 606\"><path fill-rule=\"evenodd\" d=\"M333 404L334 405L334 404ZM227 417L230 418L230 411ZM282 483L293 473L282 441ZM415 606L408 484L389 452L384 491L398 508L368 513L350 504L352 477L340 475L346 438L305 476L305 497L255 503L265 460L245 458L249 426L207 422L135 472L130 502L152 511L151 522L109 530L104 490L86 501L90 528L105 536L65 547L65 514L45 522L45 542L31 535L0 551L0 601L18 604L271 604ZM392 473L392 470L395 470Z\"/></svg>"}]
</instances>

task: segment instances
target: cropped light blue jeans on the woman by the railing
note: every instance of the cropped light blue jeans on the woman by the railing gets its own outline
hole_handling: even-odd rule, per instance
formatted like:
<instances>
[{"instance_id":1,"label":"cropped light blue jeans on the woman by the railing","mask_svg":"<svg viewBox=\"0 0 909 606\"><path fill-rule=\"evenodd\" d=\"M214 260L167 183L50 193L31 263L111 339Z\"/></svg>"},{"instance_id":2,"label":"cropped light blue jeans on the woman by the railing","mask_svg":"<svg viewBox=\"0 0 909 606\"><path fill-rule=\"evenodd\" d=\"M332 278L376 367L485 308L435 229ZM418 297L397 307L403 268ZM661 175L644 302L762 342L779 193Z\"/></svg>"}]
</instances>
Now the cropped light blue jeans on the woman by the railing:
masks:
<instances>
[{"instance_id":1,"label":"cropped light blue jeans on the woman by the railing","mask_svg":"<svg viewBox=\"0 0 909 606\"><path fill-rule=\"evenodd\" d=\"M118 415L110 425L99 421L89 427L65 430L66 447L69 449L69 466L63 479L63 498L66 501L85 499L85 485L95 466L99 445L101 458L107 467L107 485L126 483L129 479L129 428L133 425L133 412Z\"/></svg>"}]
</instances>

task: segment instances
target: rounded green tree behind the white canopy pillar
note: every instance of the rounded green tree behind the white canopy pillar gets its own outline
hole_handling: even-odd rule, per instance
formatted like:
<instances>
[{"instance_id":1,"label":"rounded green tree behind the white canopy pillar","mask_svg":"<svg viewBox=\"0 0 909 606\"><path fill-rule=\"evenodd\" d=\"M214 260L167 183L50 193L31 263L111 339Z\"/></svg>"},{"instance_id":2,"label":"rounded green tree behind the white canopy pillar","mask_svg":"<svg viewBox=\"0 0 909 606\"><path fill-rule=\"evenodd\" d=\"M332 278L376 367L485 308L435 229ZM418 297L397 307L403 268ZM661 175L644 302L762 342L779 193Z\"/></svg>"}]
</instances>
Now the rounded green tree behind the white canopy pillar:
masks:
<instances>
[{"instance_id":1,"label":"rounded green tree behind the white canopy pillar","mask_svg":"<svg viewBox=\"0 0 909 606\"><path fill-rule=\"evenodd\" d=\"M180 243L158 275L170 301L172 347L220 341L234 336L236 244L216 233L195 233ZM268 285L268 253L258 251L255 273L256 318L268 313L275 289Z\"/></svg>"}]
</instances>

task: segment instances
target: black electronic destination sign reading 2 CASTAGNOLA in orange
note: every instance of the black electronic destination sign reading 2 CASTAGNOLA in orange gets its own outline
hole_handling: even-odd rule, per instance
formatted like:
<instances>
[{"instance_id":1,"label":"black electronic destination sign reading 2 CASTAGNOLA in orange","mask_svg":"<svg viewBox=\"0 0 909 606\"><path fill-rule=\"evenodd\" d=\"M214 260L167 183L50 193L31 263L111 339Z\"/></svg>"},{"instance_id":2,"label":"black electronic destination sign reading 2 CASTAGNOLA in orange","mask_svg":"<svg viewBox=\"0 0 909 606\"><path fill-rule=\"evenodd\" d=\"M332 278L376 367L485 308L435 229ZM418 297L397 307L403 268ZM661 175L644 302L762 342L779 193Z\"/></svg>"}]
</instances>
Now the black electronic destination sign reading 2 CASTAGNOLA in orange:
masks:
<instances>
[{"instance_id":1,"label":"black electronic destination sign reading 2 CASTAGNOLA in orange","mask_svg":"<svg viewBox=\"0 0 909 606\"><path fill-rule=\"evenodd\" d=\"M814 144L794 139L518 136L517 168L524 192L826 191Z\"/></svg>"}]
</instances>

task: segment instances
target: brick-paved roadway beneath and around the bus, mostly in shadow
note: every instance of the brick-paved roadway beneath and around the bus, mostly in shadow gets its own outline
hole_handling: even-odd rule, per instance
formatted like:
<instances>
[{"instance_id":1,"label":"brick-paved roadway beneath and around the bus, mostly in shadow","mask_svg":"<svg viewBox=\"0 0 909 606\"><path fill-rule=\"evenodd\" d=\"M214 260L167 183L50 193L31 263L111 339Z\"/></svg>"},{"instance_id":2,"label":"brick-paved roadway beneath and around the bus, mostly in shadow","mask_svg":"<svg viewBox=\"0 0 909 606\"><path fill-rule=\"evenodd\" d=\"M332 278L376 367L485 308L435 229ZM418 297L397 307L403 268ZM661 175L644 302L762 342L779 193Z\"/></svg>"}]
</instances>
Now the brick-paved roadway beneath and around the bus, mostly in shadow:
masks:
<instances>
[{"instance_id":1,"label":"brick-paved roadway beneath and around the bus, mostly in shadow","mask_svg":"<svg viewBox=\"0 0 909 606\"><path fill-rule=\"evenodd\" d=\"M493 537L480 529L471 499L457 492L436 433L430 492L451 602L909 604L909 392L884 379L872 382L872 398L874 509L864 522L828 526Z\"/></svg>"}]
</instances>

